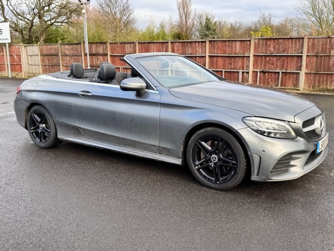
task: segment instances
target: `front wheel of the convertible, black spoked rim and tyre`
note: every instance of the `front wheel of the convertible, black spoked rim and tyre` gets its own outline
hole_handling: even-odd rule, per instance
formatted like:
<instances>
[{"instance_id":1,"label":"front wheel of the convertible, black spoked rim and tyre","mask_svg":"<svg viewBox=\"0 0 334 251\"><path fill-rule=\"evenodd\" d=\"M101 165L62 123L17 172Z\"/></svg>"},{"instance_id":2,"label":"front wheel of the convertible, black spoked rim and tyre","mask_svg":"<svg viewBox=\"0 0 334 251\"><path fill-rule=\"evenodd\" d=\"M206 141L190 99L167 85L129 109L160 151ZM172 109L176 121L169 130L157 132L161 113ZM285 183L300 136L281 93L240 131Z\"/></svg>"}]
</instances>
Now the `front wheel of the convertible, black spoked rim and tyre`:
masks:
<instances>
[{"instance_id":1,"label":"front wheel of the convertible, black spoked rim and tyre","mask_svg":"<svg viewBox=\"0 0 334 251\"><path fill-rule=\"evenodd\" d=\"M247 173L247 160L238 140L216 127L193 135L187 147L187 161L196 180L208 188L234 188Z\"/></svg>"}]
</instances>

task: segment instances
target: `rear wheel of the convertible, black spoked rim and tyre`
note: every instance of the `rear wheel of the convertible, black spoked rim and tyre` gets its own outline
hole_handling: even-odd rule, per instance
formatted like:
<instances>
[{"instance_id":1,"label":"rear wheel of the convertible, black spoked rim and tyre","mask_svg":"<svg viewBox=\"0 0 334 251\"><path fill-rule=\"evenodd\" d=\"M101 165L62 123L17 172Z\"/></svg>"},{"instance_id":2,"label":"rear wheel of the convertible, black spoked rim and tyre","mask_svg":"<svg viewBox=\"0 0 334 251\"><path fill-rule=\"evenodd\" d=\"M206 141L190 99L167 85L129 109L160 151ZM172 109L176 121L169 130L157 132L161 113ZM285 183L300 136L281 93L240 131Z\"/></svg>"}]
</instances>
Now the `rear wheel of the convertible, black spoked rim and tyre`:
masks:
<instances>
[{"instance_id":1,"label":"rear wheel of the convertible, black spoked rim and tyre","mask_svg":"<svg viewBox=\"0 0 334 251\"><path fill-rule=\"evenodd\" d=\"M55 122L43 106L36 105L30 109L27 127L33 143L40 148L51 148L60 143Z\"/></svg>"}]
</instances>

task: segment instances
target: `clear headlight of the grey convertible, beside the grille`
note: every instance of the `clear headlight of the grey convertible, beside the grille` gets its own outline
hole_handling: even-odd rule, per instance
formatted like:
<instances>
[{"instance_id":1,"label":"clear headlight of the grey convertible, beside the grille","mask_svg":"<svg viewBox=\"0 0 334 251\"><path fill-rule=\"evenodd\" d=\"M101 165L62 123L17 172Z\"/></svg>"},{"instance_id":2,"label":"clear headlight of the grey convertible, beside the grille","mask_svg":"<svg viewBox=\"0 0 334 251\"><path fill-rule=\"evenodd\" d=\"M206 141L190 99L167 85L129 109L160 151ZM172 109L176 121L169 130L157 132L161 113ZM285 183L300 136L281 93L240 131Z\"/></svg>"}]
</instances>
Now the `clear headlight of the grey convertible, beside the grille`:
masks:
<instances>
[{"instance_id":1,"label":"clear headlight of the grey convertible, beside the grille","mask_svg":"<svg viewBox=\"0 0 334 251\"><path fill-rule=\"evenodd\" d=\"M272 138L294 139L296 133L286 121L258 117L245 117L242 121L253 131Z\"/></svg>"}]
</instances>

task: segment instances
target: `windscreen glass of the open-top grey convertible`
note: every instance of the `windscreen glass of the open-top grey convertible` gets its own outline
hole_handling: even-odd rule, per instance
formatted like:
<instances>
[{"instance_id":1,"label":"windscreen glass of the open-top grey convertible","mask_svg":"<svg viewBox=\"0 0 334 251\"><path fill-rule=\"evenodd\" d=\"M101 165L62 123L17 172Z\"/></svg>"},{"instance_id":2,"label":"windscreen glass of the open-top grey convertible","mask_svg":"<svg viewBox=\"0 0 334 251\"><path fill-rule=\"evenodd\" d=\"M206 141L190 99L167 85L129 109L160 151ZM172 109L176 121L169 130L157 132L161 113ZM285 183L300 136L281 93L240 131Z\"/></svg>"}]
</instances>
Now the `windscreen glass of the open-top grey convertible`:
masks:
<instances>
[{"instance_id":1,"label":"windscreen glass of the open-top grey convertible","mask_svg":"<svg viewBox=\"0 0 334 251\"><path fill-rule=\"evenodd\" d=\"M175 88L219 79L196 63L173 55L137 58L153 77L164 87Z\"/></svg>"}]
</instances>

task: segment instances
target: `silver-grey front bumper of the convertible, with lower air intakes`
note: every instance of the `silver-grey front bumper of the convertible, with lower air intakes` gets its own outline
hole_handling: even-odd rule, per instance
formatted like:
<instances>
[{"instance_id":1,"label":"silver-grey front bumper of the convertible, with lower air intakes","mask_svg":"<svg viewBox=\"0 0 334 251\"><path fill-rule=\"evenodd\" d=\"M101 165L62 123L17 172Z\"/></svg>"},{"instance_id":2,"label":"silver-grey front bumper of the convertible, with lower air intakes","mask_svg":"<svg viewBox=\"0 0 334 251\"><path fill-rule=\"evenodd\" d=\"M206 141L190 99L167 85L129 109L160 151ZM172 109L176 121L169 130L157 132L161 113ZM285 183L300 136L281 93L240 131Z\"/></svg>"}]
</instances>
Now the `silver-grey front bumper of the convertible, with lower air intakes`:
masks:
<instances>
[{"instance_id":1,"label":"silver-grey front bumper of the convertible, with lower air intakes","mask_svg":"<svg viewBox=\"0 0 334 251\"><path fill-rule=\"evenodd\" d=\"M317 142L328 133L324 128L319 137L309 139L303 132L302 125L306 117L320 115L324 118L324 114L316 109L316 106L297 115L293 128L298 137L291 140L262 136L250 128L239 130L248 145L251 180L260 182L292 180L316 168L328 153L328 147L325 147L316 154Z\"/></svg>"}]
</instances>

